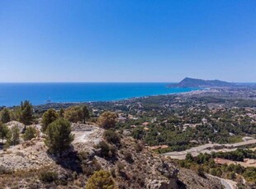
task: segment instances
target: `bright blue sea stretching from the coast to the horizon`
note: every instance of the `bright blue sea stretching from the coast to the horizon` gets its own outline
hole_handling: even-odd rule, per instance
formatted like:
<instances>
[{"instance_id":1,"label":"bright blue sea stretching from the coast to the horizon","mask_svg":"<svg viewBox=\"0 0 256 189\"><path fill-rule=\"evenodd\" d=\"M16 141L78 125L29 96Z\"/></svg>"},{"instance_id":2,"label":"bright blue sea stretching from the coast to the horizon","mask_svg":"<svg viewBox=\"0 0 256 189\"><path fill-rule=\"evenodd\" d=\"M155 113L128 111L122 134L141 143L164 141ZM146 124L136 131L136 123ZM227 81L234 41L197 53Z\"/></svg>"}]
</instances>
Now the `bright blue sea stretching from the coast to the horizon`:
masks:
<instances>
[{"instance_id":1,"label":"bright blue sea stretching from the coast to the horizon","mask_svg":"<svg viewBox=\"0 0 256 189\"><path fill-rule=\"evenodd\" d=\"M171 83L0 83L0 106L92 102L168 95L199 89L168 88Z\"/></svg>"}]
</instances>

